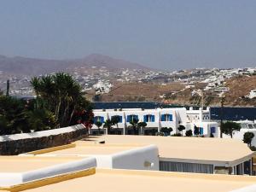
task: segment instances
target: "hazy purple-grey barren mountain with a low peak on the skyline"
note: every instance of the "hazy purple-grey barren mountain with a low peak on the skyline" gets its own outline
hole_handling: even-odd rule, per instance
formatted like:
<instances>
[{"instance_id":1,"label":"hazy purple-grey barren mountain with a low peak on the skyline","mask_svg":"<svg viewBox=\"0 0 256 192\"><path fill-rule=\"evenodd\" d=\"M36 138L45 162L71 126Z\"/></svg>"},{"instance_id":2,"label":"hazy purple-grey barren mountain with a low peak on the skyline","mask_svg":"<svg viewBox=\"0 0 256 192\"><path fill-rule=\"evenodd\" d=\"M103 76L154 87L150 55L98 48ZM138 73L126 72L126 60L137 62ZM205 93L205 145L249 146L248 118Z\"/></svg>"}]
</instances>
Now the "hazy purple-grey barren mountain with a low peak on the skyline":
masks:
<instances>
[{"instance_id":1,"label":"hazy purple-grey barren mountain with a low peak on the skyline","mask_svg":"<svg viewBox=\"0 0 256 192\"><path fill-rule=\"evenodd\" d=\"M107 55L92 54L82 59L47 60L21 56L0 55L0 71L11 74L39 75L73 70L74 67L106 67L109 69L148 69L137 63L114 59Z\"/></svg>"}]
</instances>

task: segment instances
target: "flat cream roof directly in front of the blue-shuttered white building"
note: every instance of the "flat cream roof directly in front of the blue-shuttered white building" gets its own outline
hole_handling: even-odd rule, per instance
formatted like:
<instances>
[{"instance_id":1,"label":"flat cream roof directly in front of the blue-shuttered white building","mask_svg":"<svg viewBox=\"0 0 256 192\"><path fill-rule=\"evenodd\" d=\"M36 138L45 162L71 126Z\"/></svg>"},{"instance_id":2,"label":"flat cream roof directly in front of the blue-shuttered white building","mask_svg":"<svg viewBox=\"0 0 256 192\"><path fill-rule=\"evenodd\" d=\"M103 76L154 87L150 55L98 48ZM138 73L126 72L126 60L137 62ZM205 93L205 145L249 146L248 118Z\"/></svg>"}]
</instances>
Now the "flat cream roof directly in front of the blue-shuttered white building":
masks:
<instances>
[{"instance_id":1,"label":"flat cream roof directly in front of the blue-shuttered white building","mask_svg":"<svg viewBox=\"0 0 256 192\"><path fill-rule=\"evenodd\" d=\"M160 158L183 160L230 162L254 154L246 143L230 138L103 135L94 137L93 141L89 137L84 143L96 141L105 141L106 144L155 144L159 148Z\"/></svg>"}]
</instances>

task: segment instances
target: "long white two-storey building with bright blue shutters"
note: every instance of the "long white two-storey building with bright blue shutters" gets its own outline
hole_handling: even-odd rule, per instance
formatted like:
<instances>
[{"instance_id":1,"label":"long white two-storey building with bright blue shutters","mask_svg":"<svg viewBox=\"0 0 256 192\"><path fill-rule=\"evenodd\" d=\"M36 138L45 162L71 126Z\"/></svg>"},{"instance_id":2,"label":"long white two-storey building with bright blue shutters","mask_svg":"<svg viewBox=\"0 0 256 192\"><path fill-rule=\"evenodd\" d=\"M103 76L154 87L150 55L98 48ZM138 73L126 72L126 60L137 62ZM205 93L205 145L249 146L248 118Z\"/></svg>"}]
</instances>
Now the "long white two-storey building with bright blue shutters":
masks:
<instances>
[{"instance_id":1,"label":"long white two-storey building with bright blue shutters","mask_svg":"<svg viewBox=\"0 0 256 192\"><path fill-rule=\"evenodd\" d=\"M195 126L199 128L201 136L218 137L218 124L211 122L210 109L194 110L193 108L125 108L125 109L97 109L93 111L94 121L102 122L101 131L108 134L108 129L103 128L106 119L112 119L113 116L119 117L118 125L113 126L113 131L119 135L132 135L131 120L138 119L139 122L147 123L147 126L139 131L141 135L155 135L160 132L163 127L172 128L171 134L185 134L185 131L192 130L194 132ZM177 127L183 125L185 131L178 131ZM90 129L90 134L97 134L98 127L93 125Z\"/></svg>"}]
</instances>

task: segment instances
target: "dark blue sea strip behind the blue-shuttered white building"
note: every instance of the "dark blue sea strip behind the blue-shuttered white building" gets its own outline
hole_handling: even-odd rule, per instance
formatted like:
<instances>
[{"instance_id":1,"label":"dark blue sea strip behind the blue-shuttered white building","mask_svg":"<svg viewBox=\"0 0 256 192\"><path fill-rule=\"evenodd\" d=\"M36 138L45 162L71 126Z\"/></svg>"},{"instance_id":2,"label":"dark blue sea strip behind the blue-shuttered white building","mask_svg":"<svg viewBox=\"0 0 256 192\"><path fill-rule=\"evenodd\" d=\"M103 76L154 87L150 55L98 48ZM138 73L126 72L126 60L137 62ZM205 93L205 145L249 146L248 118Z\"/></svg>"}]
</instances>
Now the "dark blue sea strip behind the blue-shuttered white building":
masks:
<instances>
[{"instance_id":1,"label":"dark blue sea strip behind the blue-shuttered white building","mask_svg":"<svg viewBox=\"0 0 256 192\"><path fill-rule=\"evenodd\" d=\"M93 102L95 109L111 109L111 108L187 108L190 106L169 105L160 102ZM198 109L199 107L193 107ZM211 107L211 119L220 120L221 108ZM256 108L223 108L224 120L255 120Z\"/></svg>"}]
</instances>

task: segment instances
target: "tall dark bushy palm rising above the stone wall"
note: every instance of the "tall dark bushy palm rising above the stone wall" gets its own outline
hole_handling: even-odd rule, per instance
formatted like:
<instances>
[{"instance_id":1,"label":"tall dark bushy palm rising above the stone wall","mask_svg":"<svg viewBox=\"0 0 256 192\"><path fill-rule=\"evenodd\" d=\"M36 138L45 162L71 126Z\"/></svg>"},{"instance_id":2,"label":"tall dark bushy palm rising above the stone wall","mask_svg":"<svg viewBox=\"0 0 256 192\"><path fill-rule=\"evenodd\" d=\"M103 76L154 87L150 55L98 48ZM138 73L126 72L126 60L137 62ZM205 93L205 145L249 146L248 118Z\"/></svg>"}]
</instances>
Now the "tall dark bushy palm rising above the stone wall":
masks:
<instances>
[{"instance_id":1,"label":"tall dark bushy palm rising above the stone wall","mask_svg":"<svg viewBox=\"0 0 256 192\"><path fill-rule=\"evenodd\" d=\"M78 114L89 115L92 110L90 102L83 96L81 86L67 73L33 78L31 84L37 98L40 97L46 105L45 108L54 113L58 126L74 124L78 119ZM37 108L39 108L38 100ZM86 111L84 111L85 109ZM74 116L76 117L74 118ZM91 117L88 119L89 121L91 121Z\"/></svg>"}]
</instances>

